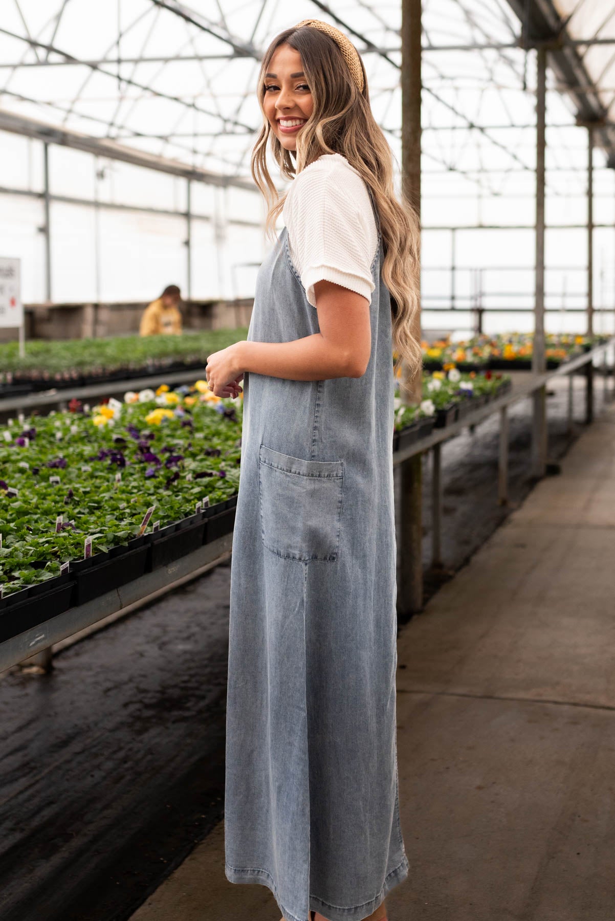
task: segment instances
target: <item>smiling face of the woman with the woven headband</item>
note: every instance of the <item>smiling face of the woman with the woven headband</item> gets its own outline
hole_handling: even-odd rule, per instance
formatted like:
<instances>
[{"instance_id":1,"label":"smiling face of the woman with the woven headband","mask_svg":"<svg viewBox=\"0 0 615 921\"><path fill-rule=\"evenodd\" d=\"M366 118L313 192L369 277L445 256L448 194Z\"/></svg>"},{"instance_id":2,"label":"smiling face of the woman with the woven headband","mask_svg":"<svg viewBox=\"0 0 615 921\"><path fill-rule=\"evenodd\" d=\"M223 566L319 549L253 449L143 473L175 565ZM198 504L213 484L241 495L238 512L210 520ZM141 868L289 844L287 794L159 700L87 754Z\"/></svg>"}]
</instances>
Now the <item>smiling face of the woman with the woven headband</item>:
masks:
<instances>
[{"instance_id":1,"label":"smiling face of the woman with the woven headband","mask_svg":"<svg viewBox=\"0 0 615 921\"><path fill-rule=\"evenodd\" d=\"M275 49L264 78L262 107L273 134L286 150L296 150L296 135L314 110L301 55L284 43Z\"/></svg>"}]
</instances>

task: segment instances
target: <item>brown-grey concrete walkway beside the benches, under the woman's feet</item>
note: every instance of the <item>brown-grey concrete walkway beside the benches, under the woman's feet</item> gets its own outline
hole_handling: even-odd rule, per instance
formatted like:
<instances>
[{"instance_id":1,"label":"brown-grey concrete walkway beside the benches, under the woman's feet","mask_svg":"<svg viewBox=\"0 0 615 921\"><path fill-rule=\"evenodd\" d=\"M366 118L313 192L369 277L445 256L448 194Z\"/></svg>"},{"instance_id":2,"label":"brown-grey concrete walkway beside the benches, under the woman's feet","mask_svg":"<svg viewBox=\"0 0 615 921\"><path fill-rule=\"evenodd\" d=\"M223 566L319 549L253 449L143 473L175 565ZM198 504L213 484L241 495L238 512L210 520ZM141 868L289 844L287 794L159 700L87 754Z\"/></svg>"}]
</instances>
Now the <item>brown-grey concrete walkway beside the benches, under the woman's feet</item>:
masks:
<instances>
[{"instance_id":1,"label":"brown-grey concrete walkway beside the benches, under the woman's feet","mask_svg":"<svg viewBox=\"0 0 615 921\"><path fill-rule=\"evenodd\" d=\"M400 634L389 921L615 919L615 407ZM133 921L278 921L224 828Z\"/></svg>"}]
</instances>

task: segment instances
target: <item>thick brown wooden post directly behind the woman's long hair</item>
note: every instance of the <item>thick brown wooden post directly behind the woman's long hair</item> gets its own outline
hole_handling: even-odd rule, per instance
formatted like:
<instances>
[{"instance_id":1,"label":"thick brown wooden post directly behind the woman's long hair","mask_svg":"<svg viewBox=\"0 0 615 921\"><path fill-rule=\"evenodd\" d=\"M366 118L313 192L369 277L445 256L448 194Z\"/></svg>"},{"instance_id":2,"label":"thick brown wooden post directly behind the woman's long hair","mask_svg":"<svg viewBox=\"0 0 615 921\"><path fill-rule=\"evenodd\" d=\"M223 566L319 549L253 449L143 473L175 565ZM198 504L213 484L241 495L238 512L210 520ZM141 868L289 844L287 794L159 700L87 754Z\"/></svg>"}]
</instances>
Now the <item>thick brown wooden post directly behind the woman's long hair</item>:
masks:
<instances>
[{"instance_id":1,"label":"thick brown wooden post directly behind the woman's long hair","mask_svg":"<svg viewBox=\"0 0 615 921\"><path fill-rule=\"evenodd\" d=\"M401 170L402 190L421 214L421 0L401 2ZM421 339L421 319L415 335ZM401 399L420 402L422 372L402 370ZM400 469L400 586L398 610L406 616L423 607L423 461L417 454Z\"/></svg>"}]
</instances>

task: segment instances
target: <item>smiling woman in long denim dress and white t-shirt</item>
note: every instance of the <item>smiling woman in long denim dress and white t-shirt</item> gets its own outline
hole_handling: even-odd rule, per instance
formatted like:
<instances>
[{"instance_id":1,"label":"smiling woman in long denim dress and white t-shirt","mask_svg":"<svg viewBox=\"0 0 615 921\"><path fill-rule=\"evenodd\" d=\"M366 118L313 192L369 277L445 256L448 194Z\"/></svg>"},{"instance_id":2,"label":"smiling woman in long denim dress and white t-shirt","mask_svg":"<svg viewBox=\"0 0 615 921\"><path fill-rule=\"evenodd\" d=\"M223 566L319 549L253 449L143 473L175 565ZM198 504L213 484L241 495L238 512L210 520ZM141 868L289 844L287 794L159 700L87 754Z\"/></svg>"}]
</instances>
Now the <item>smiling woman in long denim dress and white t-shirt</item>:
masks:
<instances>
[{"instance_id":1,"label":"smiling woman in long denim dress and white t-shirt","mask_svg":"<svg viewBox=\"0 0 615 921\"><path fill-rule=\"evenodd\" d=\"M418 225L351 42L319 20L264 55L252 175L285 227L248 341L208 356L243 380L226 721L226 877L286 921L386 917L408 874L398 802L394 344L415 369ZM285 178L278 199L271 142ZM391 316L391 298L394 312Z\"/></svg>"}]
</instances>

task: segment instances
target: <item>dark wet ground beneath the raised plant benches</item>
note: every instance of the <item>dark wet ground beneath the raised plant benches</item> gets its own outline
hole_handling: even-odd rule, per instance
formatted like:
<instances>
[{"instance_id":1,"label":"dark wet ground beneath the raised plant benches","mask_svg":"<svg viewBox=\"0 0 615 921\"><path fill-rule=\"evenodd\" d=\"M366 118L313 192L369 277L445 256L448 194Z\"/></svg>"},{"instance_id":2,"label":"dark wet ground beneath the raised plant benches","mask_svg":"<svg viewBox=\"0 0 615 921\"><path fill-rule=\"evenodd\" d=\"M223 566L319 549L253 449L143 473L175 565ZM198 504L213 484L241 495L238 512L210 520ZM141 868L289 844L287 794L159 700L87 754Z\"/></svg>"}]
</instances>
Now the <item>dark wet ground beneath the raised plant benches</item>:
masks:
<instances>
[{"instance_id":1,"label":"dark wet ground beneath the raised plant benches","mask_svg":"<svg viewBox=\"0 0 615 921\"><path fill-rule=\"evenodd\" d=\"M553 459L568 445L565 414L561 390L549 398ZM531 488L530 424L523 402L510 421L513 502ZM507 514L495 503L497 450L495 419L443 449L451 569ZM429 488L425 464L426 564ZM51 674L0 680L2 921L129 918L219 821L228 587L219 566L65 649Z\"/></svg>"}]
</instances>

